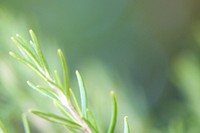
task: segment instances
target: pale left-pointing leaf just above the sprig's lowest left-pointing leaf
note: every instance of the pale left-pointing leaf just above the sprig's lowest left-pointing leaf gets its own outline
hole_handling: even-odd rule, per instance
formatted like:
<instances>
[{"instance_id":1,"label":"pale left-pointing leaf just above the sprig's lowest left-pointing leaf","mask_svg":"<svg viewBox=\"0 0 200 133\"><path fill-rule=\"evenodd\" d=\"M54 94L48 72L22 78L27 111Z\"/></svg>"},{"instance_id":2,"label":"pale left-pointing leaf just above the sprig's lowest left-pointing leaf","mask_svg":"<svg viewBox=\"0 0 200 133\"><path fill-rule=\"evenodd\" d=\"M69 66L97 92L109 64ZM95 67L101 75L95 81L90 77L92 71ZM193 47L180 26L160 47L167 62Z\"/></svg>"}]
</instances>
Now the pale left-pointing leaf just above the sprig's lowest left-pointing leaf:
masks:
<instances>
[{"instance_id":1,"label":"pale left-pointing leaf just above the sprig's lowest left-pointing leaf","mask_svg":"<svg viewBox=\"0 0 200 133\"><path fill-rule=\"evenodd\" d=\"M39 91L40 93L42 93L43 95L45 95L45 96L51 98L52 100L59 100L59 98L57 97L56 93L55 93L54 91L52 91L51 89L46 88L46 87L43 87L43 86L39 86L39 85L34 85L34 84L31 83L30 81L27 81L27 84L28 84L31 88L33 88L33 89Z\"/></svg>"}]
</instances>

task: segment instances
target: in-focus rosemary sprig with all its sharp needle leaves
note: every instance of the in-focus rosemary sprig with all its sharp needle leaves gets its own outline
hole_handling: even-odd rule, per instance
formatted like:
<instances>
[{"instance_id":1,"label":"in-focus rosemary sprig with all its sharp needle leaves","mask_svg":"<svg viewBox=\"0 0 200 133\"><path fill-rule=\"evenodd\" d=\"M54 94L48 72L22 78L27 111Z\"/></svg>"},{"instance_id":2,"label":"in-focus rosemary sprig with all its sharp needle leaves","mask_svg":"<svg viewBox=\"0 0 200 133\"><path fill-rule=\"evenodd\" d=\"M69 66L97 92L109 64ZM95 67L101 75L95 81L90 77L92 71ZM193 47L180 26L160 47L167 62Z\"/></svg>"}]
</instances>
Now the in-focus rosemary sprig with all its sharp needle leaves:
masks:
<instances>
[{"instance_id":1,"label":"in-focus rosemary sprig with all its sharp needle leaves","mask_svg":"<svg viewBox=\"0 0 200 133\"><path fill-rule=\"evenodd\" d=\"M20 54L15 52L9 52L9 54L31 68L43 79L46 86L37 85L30 81L27 81L27 84L41 94L49 97L53 101L55 107L60 110L63 115L60 116L54 113L46 113L37 110L30 110L30 112L43 119L62 125L72 133L99 133L96 120L87 106L86 91L80 73L76 71L81 99L79 103L73 90L69 86L68 68L62 51L58 49L63 71L63 76L61 78L57 70L53 72L50 71L49 64L44 58L34 32L32 30L29 32L31 36L30 42L27 42L18 34L16 37L11 38L18 47ZM113 103L112 116L107 133L114 133L117 121L117 101L113 91L111 91L111 98ZM23 123L25 132L30 133L29 124L25 115L23 115ZM3 133L7 133L6 128L1 122L0 129ZM124 117L124 133L130 133L127 116Z\"/></svg>"}]
</instances>

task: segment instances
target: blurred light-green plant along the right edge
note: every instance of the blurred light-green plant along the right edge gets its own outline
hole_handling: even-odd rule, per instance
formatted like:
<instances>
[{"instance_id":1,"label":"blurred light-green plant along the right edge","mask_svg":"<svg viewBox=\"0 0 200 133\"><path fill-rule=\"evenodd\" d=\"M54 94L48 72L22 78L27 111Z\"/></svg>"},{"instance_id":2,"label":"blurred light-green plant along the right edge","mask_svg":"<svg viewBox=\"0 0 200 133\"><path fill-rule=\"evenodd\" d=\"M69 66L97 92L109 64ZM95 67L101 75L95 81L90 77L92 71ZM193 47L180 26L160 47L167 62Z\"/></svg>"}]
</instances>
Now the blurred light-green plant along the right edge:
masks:
<instances>
[{"instance_id":1,"label":"blurred light-green plant along the right edge","mask_svg":"<svg viewBox=\"0 0 200 133\"><path fill-rule=\"evenodd\" d=\"M199 45L199 26L195 25L194 37ZM179 88L184 102L184 119L182 131L190 133L200 132L200 61L199 46L180 53L173 62L173 82Z\"/></svg>"}]
</instances>

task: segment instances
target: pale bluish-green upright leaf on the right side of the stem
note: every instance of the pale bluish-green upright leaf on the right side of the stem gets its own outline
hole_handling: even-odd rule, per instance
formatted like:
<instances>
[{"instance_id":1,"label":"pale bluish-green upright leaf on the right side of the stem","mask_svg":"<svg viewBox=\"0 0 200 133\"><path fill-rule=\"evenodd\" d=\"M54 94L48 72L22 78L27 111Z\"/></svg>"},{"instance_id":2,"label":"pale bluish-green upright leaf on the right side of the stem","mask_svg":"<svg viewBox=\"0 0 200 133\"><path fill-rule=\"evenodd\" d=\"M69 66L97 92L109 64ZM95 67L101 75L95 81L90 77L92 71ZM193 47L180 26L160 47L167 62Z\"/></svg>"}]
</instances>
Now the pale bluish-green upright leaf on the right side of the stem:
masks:
<instances>
[{"instance_id":1,"label":"pale bluish-green upright leaf on the right side of the stem","mask_svg":"<svg viewBox=\"0 0 200 133\"><path fill-rule=\"evenodd\" d=\"M85 86L84 86L82 77L78 71L76 71L76 76L77 76L78 85L80 89L82 114L83 114L83 117L87 118L87 97L86 97Z\"/></svg>"}]
</instances>

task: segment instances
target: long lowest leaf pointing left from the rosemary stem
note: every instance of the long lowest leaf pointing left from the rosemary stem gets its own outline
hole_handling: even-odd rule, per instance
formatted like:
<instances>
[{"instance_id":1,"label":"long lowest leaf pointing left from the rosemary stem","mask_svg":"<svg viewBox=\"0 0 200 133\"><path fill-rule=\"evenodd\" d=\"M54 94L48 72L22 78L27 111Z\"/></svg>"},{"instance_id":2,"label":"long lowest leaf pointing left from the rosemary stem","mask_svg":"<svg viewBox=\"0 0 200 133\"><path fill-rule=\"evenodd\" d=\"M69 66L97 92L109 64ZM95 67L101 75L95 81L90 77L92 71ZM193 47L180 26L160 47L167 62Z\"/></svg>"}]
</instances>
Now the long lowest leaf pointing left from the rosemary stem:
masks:
<instances>
[{"instance_id":1,"label":"long lowest leaf pointing left from the rosemary stem","mask_svg":"<svg viewBox=\"0 0 200 133\"><path fill-rule=\"evenodd\" d=\"M35 110L30 110L30 112L43 118L43 119L51 121L53 123L61 124L64 126L69 126L69 127L76 128L76 129L81 128L81 126L78 123L68 120L68 119L65 119L65 118L55 115L55 114L49 114L49 113L44 113L44 112L35 111Z\"/></svg>"}]
</instances>

